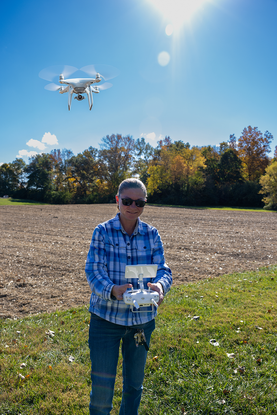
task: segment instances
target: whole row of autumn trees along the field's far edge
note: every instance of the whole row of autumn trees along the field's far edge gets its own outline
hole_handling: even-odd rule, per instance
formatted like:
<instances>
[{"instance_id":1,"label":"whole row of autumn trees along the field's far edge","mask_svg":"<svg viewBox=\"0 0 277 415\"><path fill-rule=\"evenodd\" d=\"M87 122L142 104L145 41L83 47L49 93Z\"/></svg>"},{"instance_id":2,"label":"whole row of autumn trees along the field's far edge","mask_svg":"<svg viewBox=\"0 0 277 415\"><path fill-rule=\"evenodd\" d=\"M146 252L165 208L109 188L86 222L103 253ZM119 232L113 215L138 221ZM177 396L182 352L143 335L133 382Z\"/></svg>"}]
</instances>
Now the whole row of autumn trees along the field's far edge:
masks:
<instances>
[{"instance_id":1,"label":"whole row of autumn trees along the field's far edge","mask_svg":"<svg viewBox=\"0 0 277 415\"><path fill-rule=\"evenodd\" d=\"M230 135L219 146L191 146L169 136L156 147L144 138L111 134L100 148L76 156L54 149L0 166L0 195L46 203L114 203L119 183L137 177L148 202L168 205L229 205L277 209L277 146L257 127Z\"/></svg>"}]
</instances>

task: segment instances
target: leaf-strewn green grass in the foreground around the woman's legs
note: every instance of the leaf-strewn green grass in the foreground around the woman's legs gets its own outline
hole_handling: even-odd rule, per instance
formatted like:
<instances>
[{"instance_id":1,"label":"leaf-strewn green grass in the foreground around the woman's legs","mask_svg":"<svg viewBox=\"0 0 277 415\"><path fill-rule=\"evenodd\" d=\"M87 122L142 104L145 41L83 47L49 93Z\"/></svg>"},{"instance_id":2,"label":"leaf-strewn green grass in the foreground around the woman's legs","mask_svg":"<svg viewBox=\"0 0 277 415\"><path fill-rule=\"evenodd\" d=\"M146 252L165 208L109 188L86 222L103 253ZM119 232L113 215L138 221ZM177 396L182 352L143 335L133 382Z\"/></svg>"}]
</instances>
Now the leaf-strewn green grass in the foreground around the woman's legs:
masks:
<instances>
[{"instance_id":1,"label":"leaf-strewn green grass in the foreground around the woman's legs","mask_svg":"<svg viewBox=\"0 0 277 415\"><path fill-rule=\"evenodd\" d=\"M276 414L276 289L277 266L172 288L156 318L139 413ZM0 321L1 414L88 413L88 322L85 307Z\"/></svg>"}]
</instances>

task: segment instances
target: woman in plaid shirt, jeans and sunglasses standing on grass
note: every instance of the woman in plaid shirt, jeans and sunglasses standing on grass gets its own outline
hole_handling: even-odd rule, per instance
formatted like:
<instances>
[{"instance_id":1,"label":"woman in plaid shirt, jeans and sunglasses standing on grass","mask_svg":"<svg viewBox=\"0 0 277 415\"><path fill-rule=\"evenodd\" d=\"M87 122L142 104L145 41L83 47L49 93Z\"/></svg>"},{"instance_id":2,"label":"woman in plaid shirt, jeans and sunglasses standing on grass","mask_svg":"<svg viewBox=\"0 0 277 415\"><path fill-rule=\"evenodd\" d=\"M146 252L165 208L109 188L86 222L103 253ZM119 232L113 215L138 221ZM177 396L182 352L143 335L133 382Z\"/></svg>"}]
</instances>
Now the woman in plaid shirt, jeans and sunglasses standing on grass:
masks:
<instances>
[{"instance_id":1,"label":"woman in plaid shirt, jeans and sunglasses standing on grass","mask_svg":"<svg viewBox=\"0 0 277 415\"><path fill-rule=\"evenodd\" d=\"M144 184L134 178L120 183L115 196L119 212L98 225L92 235L86 260L91 287L91 321L88 344L91 357L90 415L108 415L112 410L120 340L123 356L123 393L120 415L137 415L142 395L146 348L136 347L138 329L149 347L157 308L133 313L123 301L127 288L138 288L137 280L126 284L125 266L157 264L157 276L147 286L159 293L158 305L172 285L172 273L164 262L164 249L157 229L139 219L146 202Z\"/></svg>"}]
</instances>

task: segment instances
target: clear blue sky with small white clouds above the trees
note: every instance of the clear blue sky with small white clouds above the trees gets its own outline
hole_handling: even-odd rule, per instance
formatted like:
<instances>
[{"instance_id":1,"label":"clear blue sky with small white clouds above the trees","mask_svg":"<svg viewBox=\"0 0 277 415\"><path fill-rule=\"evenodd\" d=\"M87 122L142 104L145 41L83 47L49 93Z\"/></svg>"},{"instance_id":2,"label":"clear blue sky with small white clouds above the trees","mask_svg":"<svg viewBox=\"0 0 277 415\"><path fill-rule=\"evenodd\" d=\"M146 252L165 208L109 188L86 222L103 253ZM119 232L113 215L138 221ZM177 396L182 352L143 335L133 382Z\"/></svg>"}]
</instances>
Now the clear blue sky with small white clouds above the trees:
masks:
<instances>
[{"instance_id":1,"label":"clear blue sky with small white clouds above the trees","mask_svg":"<svg viewBox=\"0 0 277 415\"><path fill-rule=\"evenodd\" d=\"M78 154L113 133L152 146L166 135L218 145L248 125L273 134L273 156L277 0L2 0L0 7L0 163L54 148ZM112 88L93 94L91 111L87 98L73 99L69 111L68 94L45 90L49 81L38 76L49 66L92 64L120 73Z\"/></svg>"}]
</instances>

